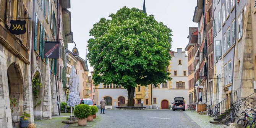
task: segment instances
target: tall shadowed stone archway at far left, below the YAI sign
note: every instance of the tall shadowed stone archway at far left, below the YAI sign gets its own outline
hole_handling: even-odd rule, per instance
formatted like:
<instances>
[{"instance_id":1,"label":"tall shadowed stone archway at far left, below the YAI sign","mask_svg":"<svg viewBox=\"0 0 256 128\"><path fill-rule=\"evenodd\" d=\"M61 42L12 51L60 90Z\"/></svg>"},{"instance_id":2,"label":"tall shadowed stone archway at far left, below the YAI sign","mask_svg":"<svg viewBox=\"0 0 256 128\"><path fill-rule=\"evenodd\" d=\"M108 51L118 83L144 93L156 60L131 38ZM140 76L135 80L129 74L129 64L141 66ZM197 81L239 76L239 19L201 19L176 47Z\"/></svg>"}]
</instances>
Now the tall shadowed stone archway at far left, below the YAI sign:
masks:
<instances>
[{"instance_id":1,"label":"tall shadowed stone archway at far left, below the YAI sign","mask_svg":"<svg viewBox=\"0 0 256 128\"><path fill-rule=\"evenodd\" d=\"M19 116L24 112L24 85L19 65L11 64L7 69L10 96L11 120L13 126L19 125Z\"/></svg>"}]
</instances>

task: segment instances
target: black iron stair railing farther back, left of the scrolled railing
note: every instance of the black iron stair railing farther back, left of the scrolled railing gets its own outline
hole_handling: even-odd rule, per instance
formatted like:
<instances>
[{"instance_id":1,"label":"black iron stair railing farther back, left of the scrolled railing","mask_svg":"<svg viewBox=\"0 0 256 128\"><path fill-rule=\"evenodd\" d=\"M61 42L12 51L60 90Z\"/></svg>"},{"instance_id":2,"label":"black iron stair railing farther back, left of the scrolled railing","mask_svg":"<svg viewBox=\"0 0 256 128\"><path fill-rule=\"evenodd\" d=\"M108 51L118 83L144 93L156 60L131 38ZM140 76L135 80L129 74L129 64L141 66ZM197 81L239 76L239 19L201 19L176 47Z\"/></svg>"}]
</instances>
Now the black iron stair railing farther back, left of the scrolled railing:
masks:
<instances>
[{"instance_id":1,"label":"black iron stair railing farther back, left of the scrolled railing","mask_svg":"<svg viewBox=\"0 0 256 128\"><path fill-rule=\"evenodd\" d=\"M230 110L230 107L233 102L236 101L237 97L237 91L230 94L230 96L226 97L224 100L220 101L218 104L216 104L214 107L211 107L211 105L207 106L207 114L210 117L218 118L220 114L223 114L224 112L227 112Z\"/></svg>"}]
</instances>

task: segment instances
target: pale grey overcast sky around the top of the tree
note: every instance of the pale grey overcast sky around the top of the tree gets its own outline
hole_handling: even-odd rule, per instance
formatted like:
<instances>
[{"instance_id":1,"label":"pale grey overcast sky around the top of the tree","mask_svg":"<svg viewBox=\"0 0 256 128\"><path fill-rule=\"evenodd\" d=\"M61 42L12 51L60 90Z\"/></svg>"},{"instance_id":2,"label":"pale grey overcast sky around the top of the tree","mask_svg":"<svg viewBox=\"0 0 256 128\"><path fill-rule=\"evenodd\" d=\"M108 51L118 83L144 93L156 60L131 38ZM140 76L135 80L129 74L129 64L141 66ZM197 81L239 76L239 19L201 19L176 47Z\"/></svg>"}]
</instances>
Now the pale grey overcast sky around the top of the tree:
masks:
<instances>
[{"instance_id":1,"label":"pale grey overcast sky around the top of the tree","mask_svg":"<svg viewBox=\"0 0 256 128\"><path fill-rule=\"evenodd\" d=\"M145 0L148 15L153 14L172 29L172 50L184 48L188 43L188 27L197 26L192 22L196 0ZM123 6L143 9L143 0L71 0L71 29L79 56L85 59L89 31L100 18L108 18ZM75 45L69 44L70 50ZM88 62L88 65L89 62ZM89 67L92 71L93 67Z\"/></svg>"}]
</instances>

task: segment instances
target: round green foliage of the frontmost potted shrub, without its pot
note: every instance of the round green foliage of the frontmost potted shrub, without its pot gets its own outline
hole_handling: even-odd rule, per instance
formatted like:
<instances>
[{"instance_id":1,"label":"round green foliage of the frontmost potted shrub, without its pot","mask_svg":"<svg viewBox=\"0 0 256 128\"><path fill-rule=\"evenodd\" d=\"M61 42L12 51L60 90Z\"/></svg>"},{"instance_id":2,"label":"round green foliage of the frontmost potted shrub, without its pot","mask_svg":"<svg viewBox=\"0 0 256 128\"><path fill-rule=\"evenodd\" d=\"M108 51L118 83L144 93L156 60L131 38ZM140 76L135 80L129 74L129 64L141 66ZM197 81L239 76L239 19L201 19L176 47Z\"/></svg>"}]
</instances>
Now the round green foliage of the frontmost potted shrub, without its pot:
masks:
<instances>
[{"instance_id":1,"label":"round green foliage of the frontmost potted shrub, without its pot","mask_svg":"<svg viewBox=\"0 0 256 128\"><path fill-rule=\"evenodd\" d=\"M92 109L87 104L79 104L76 106L74 110L74 114L79 119L84 119L92 115Z\"/></svg>"}]
</instances>

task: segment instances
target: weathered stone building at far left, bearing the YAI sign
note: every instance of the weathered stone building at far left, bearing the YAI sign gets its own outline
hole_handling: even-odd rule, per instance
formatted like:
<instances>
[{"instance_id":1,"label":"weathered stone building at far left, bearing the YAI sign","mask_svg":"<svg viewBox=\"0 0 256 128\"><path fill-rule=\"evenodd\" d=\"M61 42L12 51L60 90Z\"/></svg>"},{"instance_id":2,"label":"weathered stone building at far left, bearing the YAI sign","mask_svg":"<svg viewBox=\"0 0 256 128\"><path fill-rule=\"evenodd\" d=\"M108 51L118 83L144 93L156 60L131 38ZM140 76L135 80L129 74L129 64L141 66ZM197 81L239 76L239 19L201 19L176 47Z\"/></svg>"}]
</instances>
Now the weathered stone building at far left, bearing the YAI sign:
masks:
<instances>
[{"instance_id":1,"label":"weathered stone building at far left, bearing the YAI sign","mask_svg":"<svg viewBox=\"0 0 256 128\"><path fill-rule=\"evenodd\" d=\"M0 122L3 128L18 126L24 112L29 113L30 121L34 122L30 67L32 20L28 19L33 16L32 6L31 1L0 1ZM26 21L25 34L15 35L8 30L10 21L17 18L27 18L20 19ZM18 104L10 107L10 100Z\"/></svg>"}]
</instances>

